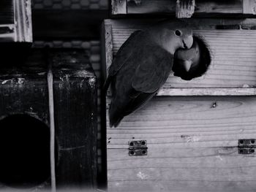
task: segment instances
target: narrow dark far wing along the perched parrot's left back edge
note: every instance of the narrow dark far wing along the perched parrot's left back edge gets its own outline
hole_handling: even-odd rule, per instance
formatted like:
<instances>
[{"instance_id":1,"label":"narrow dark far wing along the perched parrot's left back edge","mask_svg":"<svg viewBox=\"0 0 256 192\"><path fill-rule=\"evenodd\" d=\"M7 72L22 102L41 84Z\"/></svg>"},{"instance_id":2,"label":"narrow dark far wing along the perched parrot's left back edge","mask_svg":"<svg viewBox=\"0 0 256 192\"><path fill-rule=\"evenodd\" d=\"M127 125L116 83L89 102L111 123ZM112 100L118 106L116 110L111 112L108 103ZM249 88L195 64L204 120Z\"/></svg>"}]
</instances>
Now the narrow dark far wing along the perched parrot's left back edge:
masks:
<instances>
[{"instance_id":1,"label":"narrow dark far wing along the perched parrot's left back edge","mask_svg":"<svg viewBox=\"0 0 256 192\"><path fill-rule=\"evenodd\" d=\"M127 59L136 51L136 47L140 42L140 34L142 31L138 30L133 32L130 37L124 42L123 45L119 48L116 53L116 58L113 59L112 64L108 70L108 77L104 84L104 90L107 91L112 81L112 78L116 75L116 73L121 69L121 67L126 63Z\"/></svg>"}]
</instances>

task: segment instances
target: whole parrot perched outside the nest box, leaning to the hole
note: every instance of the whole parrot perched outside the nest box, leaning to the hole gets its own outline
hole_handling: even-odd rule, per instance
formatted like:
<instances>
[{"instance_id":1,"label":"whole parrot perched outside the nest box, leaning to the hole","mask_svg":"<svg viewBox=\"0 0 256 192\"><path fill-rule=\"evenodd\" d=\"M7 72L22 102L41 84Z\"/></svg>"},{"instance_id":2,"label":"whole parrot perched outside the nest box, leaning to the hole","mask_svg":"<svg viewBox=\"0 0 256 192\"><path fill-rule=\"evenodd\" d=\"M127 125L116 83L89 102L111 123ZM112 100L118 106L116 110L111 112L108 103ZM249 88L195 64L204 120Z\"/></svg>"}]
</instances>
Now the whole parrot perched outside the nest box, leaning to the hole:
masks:
<instances>
[{"instance_id":1,"label":"whole parrot perched outside the nest box, leaning to the hole","mask_svg":"<svg viewBox=\"0 0 256 192\"><path fill-rule=\"evenodd\" d=\"M104 90L111 84L110 127L142 107L167 80L179 48L192 47L187 23L162 22L133 32L119 48L108 69ZM184 66L185 67L185 66Z\"/></svg>"}]
</instances>

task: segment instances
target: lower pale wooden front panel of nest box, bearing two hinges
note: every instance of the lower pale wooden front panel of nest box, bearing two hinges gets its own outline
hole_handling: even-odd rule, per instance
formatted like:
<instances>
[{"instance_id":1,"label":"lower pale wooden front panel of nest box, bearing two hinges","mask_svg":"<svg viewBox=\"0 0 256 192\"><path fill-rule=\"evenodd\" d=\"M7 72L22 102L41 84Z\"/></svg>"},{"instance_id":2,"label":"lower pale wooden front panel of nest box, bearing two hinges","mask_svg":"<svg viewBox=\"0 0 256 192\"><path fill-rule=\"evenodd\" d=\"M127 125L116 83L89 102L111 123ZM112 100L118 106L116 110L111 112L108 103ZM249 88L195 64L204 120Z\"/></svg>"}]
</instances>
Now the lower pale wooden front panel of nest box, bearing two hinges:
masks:
<instances>
[{"instance_id":1,"label":"lower pale wooden front panel of nest box, bearing two hinges","mask_svg":"<svg viewBox=\"0 0 256 192\"><path fill-rule=\"evenodd\" d=\"M256 138L255 96L154 97L108 127L109 191L255 191L255 155L238 139ZM148 155L129 156L146 139Z\"/></svg>"}]
</instances>

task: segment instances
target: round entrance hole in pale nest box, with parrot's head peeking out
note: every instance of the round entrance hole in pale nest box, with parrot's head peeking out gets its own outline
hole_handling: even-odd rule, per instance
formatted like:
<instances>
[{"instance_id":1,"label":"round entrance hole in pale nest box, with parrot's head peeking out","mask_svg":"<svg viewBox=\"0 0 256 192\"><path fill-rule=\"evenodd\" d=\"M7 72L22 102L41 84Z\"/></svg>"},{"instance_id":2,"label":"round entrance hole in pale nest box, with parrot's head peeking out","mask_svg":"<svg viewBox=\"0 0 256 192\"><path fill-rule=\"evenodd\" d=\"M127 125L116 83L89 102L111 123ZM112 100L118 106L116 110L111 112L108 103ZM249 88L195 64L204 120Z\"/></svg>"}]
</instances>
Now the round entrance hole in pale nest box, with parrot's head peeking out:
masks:
<instances>
[{"instance_id":1,"label":"round entrance hole in pale nest box, with parrot's head peeking out","mask_svg":"<svg viewBox=\"0 0 256 192\"><path fill-rule=\"evenodd\" d=\"M211 54L202 38L193 36L190 49L178 49L174 54L173 72L183 80L192 80L206 73L211 64Z\"/></svg>"}]
</instances>

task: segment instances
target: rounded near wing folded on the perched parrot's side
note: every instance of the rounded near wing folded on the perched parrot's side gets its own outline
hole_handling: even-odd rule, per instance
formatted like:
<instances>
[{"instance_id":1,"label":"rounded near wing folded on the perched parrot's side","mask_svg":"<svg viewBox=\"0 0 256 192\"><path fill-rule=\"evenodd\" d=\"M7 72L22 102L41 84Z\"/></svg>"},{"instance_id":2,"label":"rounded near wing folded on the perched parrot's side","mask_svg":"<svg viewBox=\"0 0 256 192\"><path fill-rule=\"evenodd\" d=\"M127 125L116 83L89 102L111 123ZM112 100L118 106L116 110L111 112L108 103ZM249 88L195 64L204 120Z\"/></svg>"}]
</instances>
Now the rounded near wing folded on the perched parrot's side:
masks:
<instances>
[{"instance_id":1,"label":"rounded near wing folded on the perched parrot's side","mask_svg":"<svg viewBox=\"0 0 256 192\"><path fill-rule=\"evenodd\" d=\"M173 66L173 55L156 45L149 46L147 52L141 54L143 58L136 69L132 87L143 93L154 93L167 80Z\"/></svg>"}]
</instances>

